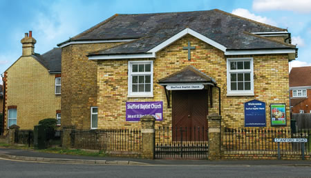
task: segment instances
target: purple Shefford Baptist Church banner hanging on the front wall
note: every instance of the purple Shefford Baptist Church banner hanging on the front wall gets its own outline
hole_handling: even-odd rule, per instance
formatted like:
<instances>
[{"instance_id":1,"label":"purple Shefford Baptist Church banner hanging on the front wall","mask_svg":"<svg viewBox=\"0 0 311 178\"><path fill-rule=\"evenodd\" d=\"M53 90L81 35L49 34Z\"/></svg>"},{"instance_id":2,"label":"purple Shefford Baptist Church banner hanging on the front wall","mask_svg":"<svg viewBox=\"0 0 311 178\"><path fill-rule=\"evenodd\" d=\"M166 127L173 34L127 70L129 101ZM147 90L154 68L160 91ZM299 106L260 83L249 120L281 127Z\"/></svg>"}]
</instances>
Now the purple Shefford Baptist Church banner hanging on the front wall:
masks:
<instances>
[{"instance_id":1,"label":"purple Shefford Baptist Church banner hanging on the front wall","mask_svg":"<svg viewBox=\"0 0 311 178\"><path fill-rule=\"evenodd\" d=\"M162 121L163 101L126 102L126 121L140 121L144 115L152 115L157 121Z\"/></svg>"}]
</instances>

